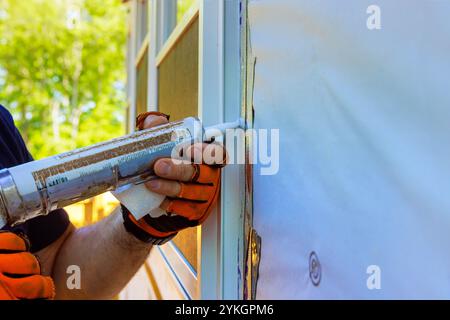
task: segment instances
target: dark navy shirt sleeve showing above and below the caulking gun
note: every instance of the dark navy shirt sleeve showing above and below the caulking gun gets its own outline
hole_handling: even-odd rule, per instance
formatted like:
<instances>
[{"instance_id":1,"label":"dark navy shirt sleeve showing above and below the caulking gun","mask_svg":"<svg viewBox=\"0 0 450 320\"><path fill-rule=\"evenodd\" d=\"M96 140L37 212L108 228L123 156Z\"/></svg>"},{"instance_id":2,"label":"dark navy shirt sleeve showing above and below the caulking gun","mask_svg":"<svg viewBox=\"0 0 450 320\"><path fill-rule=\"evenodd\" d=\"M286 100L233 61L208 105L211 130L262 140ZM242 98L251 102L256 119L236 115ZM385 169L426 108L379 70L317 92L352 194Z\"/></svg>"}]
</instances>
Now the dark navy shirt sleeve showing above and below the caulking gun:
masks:
<instances>
[{"instance_id":1,"label":"dark navy shirt sleeve showing above and below the caulking gun","mask_svg":"<svg viewBox=\"0 0 450 320\"><path fill-rule=\"evenodd\" d=\"M8 127L8 133L10 133L10 136L12 137L11 150L15 153L15 161L17 162L15 165L33 161L22 136L14 125L11 114L1 106L0 112L4 115L3 119L6 119L3 125ZM28 220L14 228L6 229L12 229L13 231L25 234L30 241L31 251L36 252L47 247L61 237L69 224L70 221L67 212L63 209L58 209L52 211L47 216L40 216Z\"/></svg>"}]
</instances>

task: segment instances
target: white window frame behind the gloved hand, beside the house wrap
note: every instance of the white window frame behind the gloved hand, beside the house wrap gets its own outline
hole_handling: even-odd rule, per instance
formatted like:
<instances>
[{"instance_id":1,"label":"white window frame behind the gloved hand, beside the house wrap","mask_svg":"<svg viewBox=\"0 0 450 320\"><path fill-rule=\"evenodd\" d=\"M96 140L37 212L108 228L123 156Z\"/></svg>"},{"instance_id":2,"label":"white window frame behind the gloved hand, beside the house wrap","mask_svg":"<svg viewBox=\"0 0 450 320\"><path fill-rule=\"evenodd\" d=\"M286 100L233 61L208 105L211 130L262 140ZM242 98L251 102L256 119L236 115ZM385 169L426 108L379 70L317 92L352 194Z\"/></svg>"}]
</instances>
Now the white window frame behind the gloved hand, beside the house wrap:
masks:
<instances>
[{"instance_id":1,"label":"white window frame behind the gloved hand, beside the house wrap","mask_svg":"<svg viewBox=\"0 0 450 320\"><path fill-rule=\"evenodd\" d=\"M129 128L136 117L136 67L148 50L147 110L158 108L158 67L187 28L199 19L198 115L204 125L234 121L241 115L241 0L196 0L176 24L175 0L148 1L148 32L137 49L137 1L130 3L132 66L129 74ZM176 26L174 27L174 23ZM170 34L168 33L170 30ZM162 41L166 39L165 41ZM245 171L230 165L222 173L219 205L197 233L197 271L175 245L152 249L149 259L165 263L184 299L242 299L244 284L243 195ZM239 186L239 187L237 187ZM156 258L155 258L156 256ZM145 264L151 269L149 260ZM172 297L170 293L163 298Z\"/></svg>"}]
</instances>

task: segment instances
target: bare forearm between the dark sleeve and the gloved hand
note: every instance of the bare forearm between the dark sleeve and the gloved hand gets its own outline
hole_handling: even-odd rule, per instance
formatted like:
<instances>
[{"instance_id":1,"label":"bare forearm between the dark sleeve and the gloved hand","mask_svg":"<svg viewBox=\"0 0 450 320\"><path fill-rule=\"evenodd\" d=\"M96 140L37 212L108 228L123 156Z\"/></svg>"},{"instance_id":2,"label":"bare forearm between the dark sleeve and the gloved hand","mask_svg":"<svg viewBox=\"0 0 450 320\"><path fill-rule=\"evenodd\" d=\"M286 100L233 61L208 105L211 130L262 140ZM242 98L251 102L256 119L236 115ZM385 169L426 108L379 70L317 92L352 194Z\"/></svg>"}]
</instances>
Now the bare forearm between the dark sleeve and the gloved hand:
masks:
<instances>
[{"instance_id":1,"label":"bare forearm between the dark sleeve and the gloved hand","mask_svg":"<svg viewBox=\"0 0 450 320\"><path fill-rule=\"evenodd\" d=\"M56 298L113 298L144 263L150 249L125 230L119 209L96 224L73 231L53 265ZM80 268L80 289L67 287L70 265Z\"/></svg>"}]
</instances>

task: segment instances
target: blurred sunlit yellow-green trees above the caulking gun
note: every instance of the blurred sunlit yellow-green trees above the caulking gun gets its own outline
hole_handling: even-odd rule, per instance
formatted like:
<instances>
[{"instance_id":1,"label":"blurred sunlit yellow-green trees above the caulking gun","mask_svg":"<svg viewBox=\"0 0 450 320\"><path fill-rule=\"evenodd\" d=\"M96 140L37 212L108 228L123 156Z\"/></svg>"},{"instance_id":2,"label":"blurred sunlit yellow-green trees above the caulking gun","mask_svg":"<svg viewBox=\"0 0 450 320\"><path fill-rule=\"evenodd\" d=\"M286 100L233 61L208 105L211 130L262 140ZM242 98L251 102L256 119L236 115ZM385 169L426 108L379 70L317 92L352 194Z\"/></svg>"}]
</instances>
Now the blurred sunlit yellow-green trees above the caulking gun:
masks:
<instances>
[{"instance_id":1,"label":"blurred sunlit yellow-green trees above the caulking gun","mask_svg":"<svg viewBox=\"0 0 450 320\"><path fill-rule=\"evenodd\" d=\"M120 136L120 0L0 0L0 103L35 158Z\"/></svg>"}]
</instances>

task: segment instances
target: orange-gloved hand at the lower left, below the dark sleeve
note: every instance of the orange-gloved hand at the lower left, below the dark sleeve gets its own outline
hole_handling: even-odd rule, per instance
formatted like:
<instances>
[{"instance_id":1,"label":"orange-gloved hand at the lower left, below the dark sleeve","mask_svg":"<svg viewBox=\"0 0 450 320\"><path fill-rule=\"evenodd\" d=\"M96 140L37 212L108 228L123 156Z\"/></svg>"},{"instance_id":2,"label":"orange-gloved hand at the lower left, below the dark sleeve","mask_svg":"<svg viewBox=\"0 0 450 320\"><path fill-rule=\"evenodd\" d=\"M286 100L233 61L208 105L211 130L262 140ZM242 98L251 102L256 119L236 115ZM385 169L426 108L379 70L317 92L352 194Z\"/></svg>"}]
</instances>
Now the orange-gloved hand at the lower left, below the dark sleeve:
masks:
<instances>
[{"instance_id":1,"label":"orange-gloved hand at the lower left, below the dark sleeve","mask_svg":"<svg viewBox=\"0 0 450 320\"><path fill-rule=\"evenodd\" d=\"M0 231L0 300L53 299L53 280L40 273L39 262L28 252L26 241Z\"/></svg>"}]
</instances>

